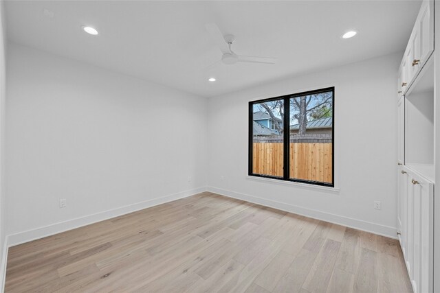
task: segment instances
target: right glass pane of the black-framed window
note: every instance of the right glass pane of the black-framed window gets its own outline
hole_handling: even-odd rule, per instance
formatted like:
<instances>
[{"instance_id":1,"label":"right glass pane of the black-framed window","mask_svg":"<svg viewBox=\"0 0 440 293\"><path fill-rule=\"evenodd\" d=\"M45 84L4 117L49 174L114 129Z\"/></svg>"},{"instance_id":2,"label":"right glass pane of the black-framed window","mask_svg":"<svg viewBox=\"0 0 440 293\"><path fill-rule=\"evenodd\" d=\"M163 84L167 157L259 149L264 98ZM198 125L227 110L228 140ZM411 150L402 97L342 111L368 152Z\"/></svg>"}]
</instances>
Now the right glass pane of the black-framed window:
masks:
<instances>
[{"instance_id":1,"label":"right glass pane of the black-framed window","mask_svg":"<svg viewBox=\"0 0 440 293\"><path fill-rule=\"evenodd\" d=\"M333 91L289 102L289 178L333 184Z\"/></svg>"}]
</instances>

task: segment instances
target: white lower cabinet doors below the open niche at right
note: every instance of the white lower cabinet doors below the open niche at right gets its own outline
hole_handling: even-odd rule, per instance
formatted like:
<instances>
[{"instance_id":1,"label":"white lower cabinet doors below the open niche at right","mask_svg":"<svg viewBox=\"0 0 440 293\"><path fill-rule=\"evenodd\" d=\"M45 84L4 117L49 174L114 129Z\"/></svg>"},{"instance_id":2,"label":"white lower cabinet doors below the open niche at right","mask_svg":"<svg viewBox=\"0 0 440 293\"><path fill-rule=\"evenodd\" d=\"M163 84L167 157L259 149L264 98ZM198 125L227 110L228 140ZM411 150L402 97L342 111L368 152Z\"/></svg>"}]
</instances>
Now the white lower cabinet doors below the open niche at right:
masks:
<instances>
[{"instance_id":1,"label":"white lower cabinet doors below the open niche at right","mask_svg":"<svg viewBox=\"0 0 440 293\"><path fill-rule=\"evenodd\" d=\"M433 292L434 184L398 168L397 231L415 293Z\"/></svg>"}]
</instances>

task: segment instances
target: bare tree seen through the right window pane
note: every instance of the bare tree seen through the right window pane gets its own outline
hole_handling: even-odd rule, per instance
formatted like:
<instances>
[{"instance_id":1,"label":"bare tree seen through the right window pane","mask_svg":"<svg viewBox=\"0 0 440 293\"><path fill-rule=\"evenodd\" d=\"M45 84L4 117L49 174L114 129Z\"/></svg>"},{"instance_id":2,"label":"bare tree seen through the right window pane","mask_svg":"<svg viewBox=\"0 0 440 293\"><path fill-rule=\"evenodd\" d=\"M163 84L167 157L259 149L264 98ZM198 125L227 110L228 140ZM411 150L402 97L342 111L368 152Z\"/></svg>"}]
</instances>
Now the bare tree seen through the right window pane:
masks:
<instances>
[{"instance_id":1,"label":"bare tree seen through the right window pane","mask_svg":"<svg viewBox=\"0 0 440 293\"><path fill-rule=\"evenodd\" d=\"M290 99L291 117L298 120L298 135L304 135L306 132L307 116L311 119L318 119L317 117L328 117L324 115L329 115L333 112L332 98L333 93L326 92L292 97Z\"/></svg>"}]
</instances>

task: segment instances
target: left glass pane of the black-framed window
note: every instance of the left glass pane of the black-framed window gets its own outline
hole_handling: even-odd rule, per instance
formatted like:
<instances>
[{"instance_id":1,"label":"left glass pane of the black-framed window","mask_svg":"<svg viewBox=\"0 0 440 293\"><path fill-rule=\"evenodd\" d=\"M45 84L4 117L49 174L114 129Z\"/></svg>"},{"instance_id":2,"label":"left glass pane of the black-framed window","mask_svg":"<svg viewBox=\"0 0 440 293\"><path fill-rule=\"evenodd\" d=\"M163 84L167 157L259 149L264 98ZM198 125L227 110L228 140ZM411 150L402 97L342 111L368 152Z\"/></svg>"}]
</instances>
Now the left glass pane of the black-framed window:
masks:
<instances>
[{"instance_id":1,"label":"left glass pane of the black-framed window","mask_svg":"<svg viewBox=\"0 0 440 293\"><path fill-rule=\"evenodd\" d=\"M252 173L283 177L284 101L252 105Z\"/></svg>"}]
</instances>

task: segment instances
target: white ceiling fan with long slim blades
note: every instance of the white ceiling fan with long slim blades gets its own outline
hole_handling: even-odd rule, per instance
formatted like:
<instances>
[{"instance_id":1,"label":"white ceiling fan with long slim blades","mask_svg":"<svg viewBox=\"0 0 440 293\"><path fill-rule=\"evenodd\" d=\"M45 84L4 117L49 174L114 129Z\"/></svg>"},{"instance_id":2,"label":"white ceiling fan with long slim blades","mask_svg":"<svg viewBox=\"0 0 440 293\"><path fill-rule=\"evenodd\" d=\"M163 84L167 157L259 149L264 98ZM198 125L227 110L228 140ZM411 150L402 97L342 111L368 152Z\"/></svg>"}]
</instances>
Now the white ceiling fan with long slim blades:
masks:
<instances>
[{"instance_id":1,"label":"white ceiling fan with long slim blades","mask_svg":"<svg viewBox=\"0 0 440 293\"><path fill-rule=\"evenodd\" d=\"M221 56L221 62L223 62L223 64L232 65L236 62L274 64L276 62L275 58L237 55L231 49L231 45L235 40L234 35L227 34L223 37L219 27L215 23L206 23L205 27L212 40L214 40L221 53L223 53L223 56Z\"/></svg>"}]
</instances>

